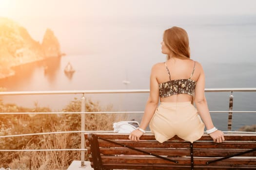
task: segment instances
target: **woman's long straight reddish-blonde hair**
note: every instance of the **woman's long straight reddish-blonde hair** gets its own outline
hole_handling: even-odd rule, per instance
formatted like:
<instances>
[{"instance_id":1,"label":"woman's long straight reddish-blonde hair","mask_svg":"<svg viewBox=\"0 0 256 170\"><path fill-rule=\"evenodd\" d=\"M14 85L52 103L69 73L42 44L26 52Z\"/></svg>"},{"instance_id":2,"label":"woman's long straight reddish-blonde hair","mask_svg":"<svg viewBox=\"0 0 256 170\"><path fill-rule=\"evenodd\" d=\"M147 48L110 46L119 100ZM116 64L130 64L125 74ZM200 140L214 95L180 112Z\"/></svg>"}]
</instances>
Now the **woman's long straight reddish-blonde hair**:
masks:
<instances>
[{"instance_id":1,"label":"woman's long straight reddish-blonde hair","mask_svg":"<svg viewBox=\"0 0 256 170\"><path fill-rule=\"evenodd\" d=\"M172 27L163 33L163 42L172 51L174 57L180 59L190 58L189 39L187 32L180 27ZM167 54L166 59L170 59Z\"/></svg>"}]
</instances>

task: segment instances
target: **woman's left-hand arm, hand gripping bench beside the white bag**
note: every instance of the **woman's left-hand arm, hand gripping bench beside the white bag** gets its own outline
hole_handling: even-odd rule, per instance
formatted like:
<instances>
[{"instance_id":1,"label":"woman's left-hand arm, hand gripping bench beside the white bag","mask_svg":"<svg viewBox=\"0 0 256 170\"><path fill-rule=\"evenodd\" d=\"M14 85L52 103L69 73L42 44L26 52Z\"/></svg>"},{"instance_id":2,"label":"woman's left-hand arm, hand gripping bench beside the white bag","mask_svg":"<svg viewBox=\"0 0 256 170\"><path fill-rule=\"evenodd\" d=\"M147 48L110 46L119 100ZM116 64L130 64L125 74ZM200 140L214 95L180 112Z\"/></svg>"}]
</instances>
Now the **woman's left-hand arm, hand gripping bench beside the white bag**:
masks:
<instances>
[{"instance_id":1,"label":"woman's left-hand arm, hand gripping bench beside the white bag","mask_svg":"<svg viewBox=\"0 0 256 170\"><path fill-rule=\"evenodd\" d=\"M153 66L151 70L149 98L146 103L144 114L139 126L142 130L146 129L158 106L159 86L158 86L158 81L156 76L157 70L158 70L158 64ZM143 132L137 129L130 134L129 139L134 141L139 141L139 137L142 135L143 135Z\"/></svg>"}]
</instances>

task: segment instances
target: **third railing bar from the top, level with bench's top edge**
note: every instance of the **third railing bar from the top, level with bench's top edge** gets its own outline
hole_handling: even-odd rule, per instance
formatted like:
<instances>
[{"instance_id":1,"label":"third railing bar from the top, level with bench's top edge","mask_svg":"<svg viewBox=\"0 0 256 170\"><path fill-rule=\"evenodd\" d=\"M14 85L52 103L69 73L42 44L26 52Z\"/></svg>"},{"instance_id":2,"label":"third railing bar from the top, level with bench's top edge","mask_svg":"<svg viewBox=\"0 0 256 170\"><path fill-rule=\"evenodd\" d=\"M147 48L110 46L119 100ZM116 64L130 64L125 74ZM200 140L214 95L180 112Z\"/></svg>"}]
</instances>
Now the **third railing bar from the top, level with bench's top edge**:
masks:
<instances>
[{"instance_id":1,"label":"third railing bar from the top, level with bench's top edge","mask_svg":"<svg viewBox=\"0 0 256 170\"><path fill-rule=\"evenodd\" d=\"M0 136L0 138L4 137L19 137L19 136L36 136L36 135L52 135L52 134L68 134L68 133L113 133L114 131L62 131L62 132L44 132L44 133L35 133L35 134L20 134L20 135L8 135L8 136ZM150 131L146 131L150 132ZM240 131L222 131L223 133L255 133L256 132L240 132Z\"/></svg>"}]
</instances>

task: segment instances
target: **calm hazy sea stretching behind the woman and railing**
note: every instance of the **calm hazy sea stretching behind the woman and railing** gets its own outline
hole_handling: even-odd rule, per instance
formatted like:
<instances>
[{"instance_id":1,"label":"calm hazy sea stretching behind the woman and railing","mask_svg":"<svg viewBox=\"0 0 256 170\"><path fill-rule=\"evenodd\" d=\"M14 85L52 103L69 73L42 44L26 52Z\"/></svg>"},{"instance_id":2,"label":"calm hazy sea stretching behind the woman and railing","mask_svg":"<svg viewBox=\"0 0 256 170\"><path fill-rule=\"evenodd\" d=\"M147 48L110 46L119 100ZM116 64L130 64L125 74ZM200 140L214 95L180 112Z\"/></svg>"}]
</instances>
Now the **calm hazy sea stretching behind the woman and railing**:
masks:
<instances>
[{"instance_id":1,"label":"calm hazy sea stretching behind the woman and railing","mask_svg":"<svg viewBox=\"0 0 256 170\"><path fill-rule=\"evenodd\" d=\"M43 27L38 20L29 18L21 23L32 37ZM191 59L204 68L205 88L256 87L256 16L53 18L48 24L66 55L14 67L16 74L0 79L1 87L7 91L149 89L152 66L166 59L160 47L163 31L172 26L187 31ZM72 76L64 73L68 62L76 70ZM206 93L209 109L227 111L230 95ZM256 111L256 92L234 92L233 96L233 110ZM148 93L85 97L113 111L143 111ZM81 95L0 97L4 103L50 107L52 111L61 111L74 98ZM228 113L211 116L218 129L227 131ZM135 113L124 120L140 121L141 117ZM233 114L232 130L252 124L256 124L256 114Z\"/></svg>"}]
</instances>

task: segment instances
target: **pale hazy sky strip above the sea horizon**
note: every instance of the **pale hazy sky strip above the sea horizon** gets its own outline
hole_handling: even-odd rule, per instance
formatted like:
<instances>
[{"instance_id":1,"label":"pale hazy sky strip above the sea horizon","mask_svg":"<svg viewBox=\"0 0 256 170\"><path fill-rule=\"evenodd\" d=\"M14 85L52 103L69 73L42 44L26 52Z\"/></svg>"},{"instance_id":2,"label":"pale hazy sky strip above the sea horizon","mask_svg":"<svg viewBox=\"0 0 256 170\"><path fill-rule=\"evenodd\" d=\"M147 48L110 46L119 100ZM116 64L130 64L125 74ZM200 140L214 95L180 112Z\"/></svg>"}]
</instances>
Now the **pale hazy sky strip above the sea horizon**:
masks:
<instances>
[{"instance_id":1,"label":"pale hazy sky strip above the sea horizon","mask_svg":"<svg viewBox=\"0 0 256 170\"><path fill-rule=\"evenodd\" d=\"M0 0L1 17L255 15L256 0Z\"/></svg>"}]
</instances>

